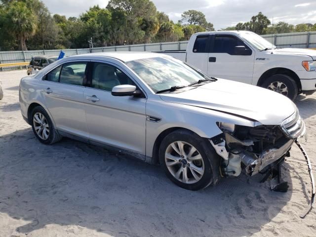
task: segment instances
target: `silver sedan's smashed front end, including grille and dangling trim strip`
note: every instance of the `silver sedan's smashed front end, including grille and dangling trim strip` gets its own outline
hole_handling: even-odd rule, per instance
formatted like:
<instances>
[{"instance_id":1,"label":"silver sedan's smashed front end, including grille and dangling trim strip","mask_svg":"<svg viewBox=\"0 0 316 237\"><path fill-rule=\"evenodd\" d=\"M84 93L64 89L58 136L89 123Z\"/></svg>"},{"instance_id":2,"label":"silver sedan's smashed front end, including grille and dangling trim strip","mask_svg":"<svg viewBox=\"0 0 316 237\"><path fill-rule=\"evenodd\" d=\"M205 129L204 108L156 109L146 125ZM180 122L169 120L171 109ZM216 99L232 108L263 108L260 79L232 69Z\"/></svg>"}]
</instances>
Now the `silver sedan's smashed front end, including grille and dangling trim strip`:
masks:
<instances>
[{"instance_id":1,"label":"silver sedan's smashed front end, including grille and dangling trim strip","mask_svg":"<svg viewBox=\"0 0 316 237\"><path fill-rule=\"evenodd\" d=\"M271 180L271 189L286 192L287 182L281 179L281 163L290 156L290 149L296 143L308 164L312 181L312 198L304 218L312 209L315 198L314 176L310 160L297 138L306 135L304 121L299 113L294 113L281 125L258 125L255 127L218 122L223 133L209 139L216 153L223 158L220 172L222 176L238 176L244 172L253 176L265 174L262 182Z\"/></svg>"}]
</instances>

